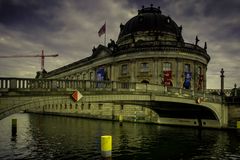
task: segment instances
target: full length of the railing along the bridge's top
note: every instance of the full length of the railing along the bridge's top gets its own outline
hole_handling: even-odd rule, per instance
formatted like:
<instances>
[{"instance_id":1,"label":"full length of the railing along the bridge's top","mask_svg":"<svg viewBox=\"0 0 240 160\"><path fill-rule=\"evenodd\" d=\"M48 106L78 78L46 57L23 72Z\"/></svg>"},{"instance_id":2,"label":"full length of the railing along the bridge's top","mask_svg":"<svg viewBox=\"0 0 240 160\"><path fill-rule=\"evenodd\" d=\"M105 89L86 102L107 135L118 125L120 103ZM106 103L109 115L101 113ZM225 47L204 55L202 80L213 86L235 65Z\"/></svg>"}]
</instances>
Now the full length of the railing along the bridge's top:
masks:
<instances>
[{"instance_id":1,"label":"full length of the railing along the bridge's top","mask_svg":"<svg viewBox=\"0 0 240 160\"><path fill-rule=\"evenodd\" d=\"M0 78L0 89L34 91L61 91L63 89L78 89L80 91L127 91L148 92L159 95L181 97L188 99L202 98L205 101L221 103L221 97L189 89L165 87L158 84L145 84L118 81L64 80L64 79L30 79L30 78ZM1 91L0 90L0 91Z\"/></svg>"}]
</instances>

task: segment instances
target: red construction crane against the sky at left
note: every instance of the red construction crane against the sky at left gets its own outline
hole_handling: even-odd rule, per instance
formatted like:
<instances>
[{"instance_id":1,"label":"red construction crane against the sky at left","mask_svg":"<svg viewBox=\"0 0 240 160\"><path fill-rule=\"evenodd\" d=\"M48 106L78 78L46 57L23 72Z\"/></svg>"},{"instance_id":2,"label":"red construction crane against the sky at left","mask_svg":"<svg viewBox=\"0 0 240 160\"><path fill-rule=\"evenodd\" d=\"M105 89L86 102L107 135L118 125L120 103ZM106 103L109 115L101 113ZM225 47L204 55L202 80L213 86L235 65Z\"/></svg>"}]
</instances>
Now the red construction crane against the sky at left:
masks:
<instances>
[{"instance_id":1,"label":"red construction crane against the sky at left","mask_svg":"<svg viewBox=\"0 0 240 160\"><path fill-rule=\"evenodd\" d=\"M0 58L25 58L25 57L41 57L41 71L44 70L44 59L45 57L57 57L58 54L45 55L44 50L42 50L41 55L9 55L9 56L0 56Z\"/></svg>"}]
</instances>

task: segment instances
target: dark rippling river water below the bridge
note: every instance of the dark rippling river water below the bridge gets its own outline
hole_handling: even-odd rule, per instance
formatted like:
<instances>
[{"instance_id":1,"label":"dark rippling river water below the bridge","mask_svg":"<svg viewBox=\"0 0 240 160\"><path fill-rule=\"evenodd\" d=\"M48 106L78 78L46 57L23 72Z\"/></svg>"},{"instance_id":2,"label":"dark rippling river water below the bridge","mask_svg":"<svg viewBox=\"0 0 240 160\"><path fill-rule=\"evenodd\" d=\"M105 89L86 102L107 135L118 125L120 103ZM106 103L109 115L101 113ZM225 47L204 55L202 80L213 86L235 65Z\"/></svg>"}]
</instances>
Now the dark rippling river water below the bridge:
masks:
<instances>
[{"instance_id":1,"label":"dark rippling river water below the bridge","mask_svg":"<svg viewBox=\"0 0 240 160\"><path fill-rule=\"evenodd\" d=\"M17 118L17 136L11 120ZM18 113L0 120L0 159L101 159L112 135L113 160L240 159L240 132Z\"/></svg>"}]
</instances>

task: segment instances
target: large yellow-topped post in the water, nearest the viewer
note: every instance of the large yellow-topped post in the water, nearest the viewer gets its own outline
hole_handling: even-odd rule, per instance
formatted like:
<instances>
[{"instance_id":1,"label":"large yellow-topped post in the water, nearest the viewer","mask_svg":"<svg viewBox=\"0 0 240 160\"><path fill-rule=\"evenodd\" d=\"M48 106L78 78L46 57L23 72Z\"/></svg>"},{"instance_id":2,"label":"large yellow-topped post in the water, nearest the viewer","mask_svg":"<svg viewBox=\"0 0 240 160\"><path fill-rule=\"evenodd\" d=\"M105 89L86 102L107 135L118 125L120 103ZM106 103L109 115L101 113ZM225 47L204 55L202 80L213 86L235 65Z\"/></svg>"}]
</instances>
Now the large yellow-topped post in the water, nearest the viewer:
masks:
<instances>
[{"instance_id":1,"label":"large yellow-topped post in the water, nearest the viewer","mask_svg":"<svg viewBox=\"0 0 240 160\"><path fill-rule=\"evenodd\" d=\"M101 136L101 154L102 157L112 156L112 136Z\"/></svg>"}]
</instances>

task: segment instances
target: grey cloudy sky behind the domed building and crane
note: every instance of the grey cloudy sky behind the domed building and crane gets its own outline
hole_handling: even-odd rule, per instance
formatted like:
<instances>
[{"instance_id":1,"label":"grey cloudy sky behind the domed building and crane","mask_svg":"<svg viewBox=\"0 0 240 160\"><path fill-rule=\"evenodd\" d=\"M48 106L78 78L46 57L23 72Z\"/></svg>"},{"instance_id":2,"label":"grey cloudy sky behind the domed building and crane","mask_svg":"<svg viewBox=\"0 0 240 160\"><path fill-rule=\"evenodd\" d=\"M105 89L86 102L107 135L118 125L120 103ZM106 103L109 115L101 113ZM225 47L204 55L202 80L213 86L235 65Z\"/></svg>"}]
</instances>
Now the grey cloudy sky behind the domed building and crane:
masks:
<instances>
[{"instance_id":1,"label":"grey cloudy sky behind the domed building and crane","mask_svg":"<svg viewBox=\"0 0 240 160\"><path fill-rule=\"evenodd\" d=\"M0 56L59 54L46 58L51 71L91 55L103 43L98 30L107 22L107 40L117 40L120 23L137 15L142 5L160 6L183 26L185 42L208 44L211 61L207 88L240 86L239 0L0 0ZM40 58L0 58L0 77L35 77Z\"/></svg>"}]
</instances>

